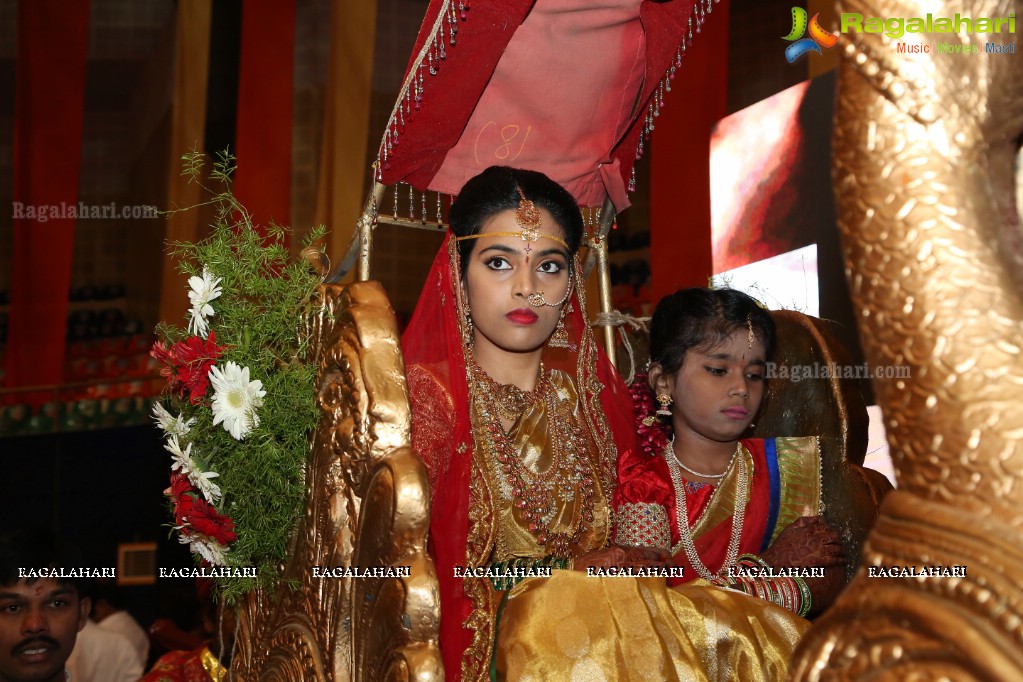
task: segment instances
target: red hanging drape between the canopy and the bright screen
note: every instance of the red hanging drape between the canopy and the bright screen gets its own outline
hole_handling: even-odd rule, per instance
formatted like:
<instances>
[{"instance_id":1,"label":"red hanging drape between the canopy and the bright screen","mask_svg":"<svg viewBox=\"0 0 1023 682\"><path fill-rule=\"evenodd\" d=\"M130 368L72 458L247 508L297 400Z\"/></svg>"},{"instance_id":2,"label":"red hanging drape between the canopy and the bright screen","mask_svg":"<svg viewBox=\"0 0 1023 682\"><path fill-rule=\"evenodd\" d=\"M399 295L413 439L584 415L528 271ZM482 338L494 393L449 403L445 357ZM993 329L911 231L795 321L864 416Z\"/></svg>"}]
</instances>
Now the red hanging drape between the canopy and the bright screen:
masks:
<instances>
[{"instance_id":1,"label":"red hanging drape between the canopy and the bright screen","mask_svg":"<svg viewBox=\"0 0 1023 682\"><path fill-rule=\"evenodd\" d=\"M714 5L682 60L651 144L651 270L658 301L712 273L710 133L727 112L728 0Z\"/></svg>"}]
</instances>

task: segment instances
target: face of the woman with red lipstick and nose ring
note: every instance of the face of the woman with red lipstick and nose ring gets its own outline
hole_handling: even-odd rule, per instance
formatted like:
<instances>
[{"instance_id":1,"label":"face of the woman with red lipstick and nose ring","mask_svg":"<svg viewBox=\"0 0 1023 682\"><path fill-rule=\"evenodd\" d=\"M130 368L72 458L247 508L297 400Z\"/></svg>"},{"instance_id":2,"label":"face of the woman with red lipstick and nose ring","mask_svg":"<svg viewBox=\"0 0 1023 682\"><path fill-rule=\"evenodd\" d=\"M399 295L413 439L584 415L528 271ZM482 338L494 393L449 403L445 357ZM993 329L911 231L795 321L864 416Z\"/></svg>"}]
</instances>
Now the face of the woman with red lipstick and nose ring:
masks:
<instances>
[{"instance_id":1,"label":"face of the woman with red lipstick and nose ring","mask_svg":"<svg viewBox=\"0 0 1023 682\"><path fill-rule=\"evenodd\" d=\"M465 269L463 292L475 327L477 354L487 347L510 353L540 349L553 333L562 306L534 307L531 293L557 304L570 285L568 249L548 237L565 238L565 232L540 209L540 238L525 241L514 210L495 214L484 224ZM513 235L486 236L489 232Z\"/></svg>"}]
</instances>

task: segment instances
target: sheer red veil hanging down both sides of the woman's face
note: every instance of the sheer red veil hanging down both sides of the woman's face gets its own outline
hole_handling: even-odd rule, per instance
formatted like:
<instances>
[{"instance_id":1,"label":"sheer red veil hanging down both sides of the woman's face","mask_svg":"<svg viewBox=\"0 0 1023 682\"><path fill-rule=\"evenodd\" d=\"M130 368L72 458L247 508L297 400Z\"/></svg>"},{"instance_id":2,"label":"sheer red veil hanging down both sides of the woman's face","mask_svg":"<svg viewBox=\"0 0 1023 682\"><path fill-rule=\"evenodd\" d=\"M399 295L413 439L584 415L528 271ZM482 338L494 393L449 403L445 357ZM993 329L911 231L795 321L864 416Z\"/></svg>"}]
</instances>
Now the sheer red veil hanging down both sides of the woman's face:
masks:
<instances>
[{"instance_id":1,"label":"sheer red veil hanging down both sides of the woman's face","mask_svg":"<svg viewBox=\"0 0 1023 682\"><path fill-rule=\"evenodd\" d=\"M465 373L465 347L459 328L457 257L450 233L434 259L408 328L402 336L412 408L412 445L430 471L432 489L430 550L441 588L441 654L448 680L476 676L489 663L492 641L480 641L479 627L466 628L476 609L474 590L492 590L485 580L455 578L456 567L474 565L481 552L471 538L470 479L473 424ZM544 366L574 378L590 436L608 453L605 476L614 481L614 454L634 450L631 398L585 321L584 300L576 285L566 329L574 348L546 349ZM610 447L609 447L610 446ZM608 461L610 459L610 461ZM473 551L477 556L473 556ZM478 624L477 624L478 625ZM474 640L475 635L475 640ZM464 653L469 651L470 656ZM473 661L470 657L475 656ZM485 661L482 660L485 657Z\"/></svg>"}]
</instances>

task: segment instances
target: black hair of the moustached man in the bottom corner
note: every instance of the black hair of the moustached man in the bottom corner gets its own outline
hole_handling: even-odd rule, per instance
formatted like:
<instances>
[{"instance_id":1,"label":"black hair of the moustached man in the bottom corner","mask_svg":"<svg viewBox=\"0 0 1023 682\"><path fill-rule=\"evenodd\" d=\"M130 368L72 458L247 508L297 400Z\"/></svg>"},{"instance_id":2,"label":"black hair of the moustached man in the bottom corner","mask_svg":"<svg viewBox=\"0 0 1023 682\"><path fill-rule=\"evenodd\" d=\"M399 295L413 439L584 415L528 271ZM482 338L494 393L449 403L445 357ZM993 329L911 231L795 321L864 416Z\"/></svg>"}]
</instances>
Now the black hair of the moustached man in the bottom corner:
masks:
<instances>
[{"instance_id":1,"label":"black hair of the moustached man in the bottom corner","mask_svg":"<svg viewBox=\"0 0 1023 682\"><path fill-rule=\"evenodd\" d=\"M72 543L59 538L52 531L43 529L16 529L0 533L0 587L10 587L20 580L30 585L39 578L21 578L19 570L79 569L83 566L82 554ZM79 578L51 580L74 588L79 597L86 595L85 581Z\"/></svg>"}]
</instances>

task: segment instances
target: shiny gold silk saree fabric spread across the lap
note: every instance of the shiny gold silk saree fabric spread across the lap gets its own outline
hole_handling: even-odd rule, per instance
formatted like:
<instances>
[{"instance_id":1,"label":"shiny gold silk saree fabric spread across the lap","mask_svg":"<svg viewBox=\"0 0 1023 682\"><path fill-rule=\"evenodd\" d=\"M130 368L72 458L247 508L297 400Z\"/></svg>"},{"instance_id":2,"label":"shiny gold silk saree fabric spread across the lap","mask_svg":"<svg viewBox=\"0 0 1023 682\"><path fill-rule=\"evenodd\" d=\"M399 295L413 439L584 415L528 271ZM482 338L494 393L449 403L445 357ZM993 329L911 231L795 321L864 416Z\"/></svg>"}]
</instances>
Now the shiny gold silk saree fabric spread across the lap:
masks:
<instances>
[{"instance_id":1,"label":"shiny gold silk saree fabric spread across the lap","mask_svg":"<svg viewBox=\"0 0 1023 682\"><path fill-rule=\"evenodd\" d=\"M498 680L784 680L809 627L790 611L702 580L555 571L520 583L498 627Z\"/></svg>"}]
</instances>

